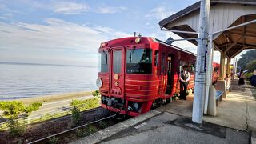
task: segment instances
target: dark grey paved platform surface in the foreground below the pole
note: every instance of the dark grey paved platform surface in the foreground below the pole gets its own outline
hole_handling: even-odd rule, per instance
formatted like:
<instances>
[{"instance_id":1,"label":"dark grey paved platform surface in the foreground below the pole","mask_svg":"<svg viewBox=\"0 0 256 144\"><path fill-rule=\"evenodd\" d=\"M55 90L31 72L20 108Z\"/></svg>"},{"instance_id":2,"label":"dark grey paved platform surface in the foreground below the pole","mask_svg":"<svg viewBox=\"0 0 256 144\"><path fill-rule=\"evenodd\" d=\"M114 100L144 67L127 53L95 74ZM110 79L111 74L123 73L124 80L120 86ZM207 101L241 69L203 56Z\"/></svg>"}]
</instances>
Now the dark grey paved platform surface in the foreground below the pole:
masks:
<instances>
[{"instance_id":1,"label":"dark grey paved platform surface in the foreground below the pole","mask_svg":"<svg viewBox=\"0 0 256 144\"><path fill-rule=\"evenodd\" d=\"M141 124L141 126L140 126ZM164 112L121 131L101 143L248 143L249 134Z\"/></svg>"}]
</instances>

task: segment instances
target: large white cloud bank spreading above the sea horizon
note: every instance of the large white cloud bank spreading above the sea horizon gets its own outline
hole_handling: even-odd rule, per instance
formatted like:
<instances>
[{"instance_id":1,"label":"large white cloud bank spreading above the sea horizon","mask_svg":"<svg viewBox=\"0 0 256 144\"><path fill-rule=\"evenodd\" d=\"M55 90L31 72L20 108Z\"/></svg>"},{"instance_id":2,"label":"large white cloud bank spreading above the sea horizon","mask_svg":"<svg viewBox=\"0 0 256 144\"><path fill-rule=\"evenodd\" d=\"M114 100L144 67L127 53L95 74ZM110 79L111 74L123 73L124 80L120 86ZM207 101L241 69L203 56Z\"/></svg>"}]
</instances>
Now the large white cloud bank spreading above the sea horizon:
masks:
<instances>
[{"instance_id":1,"label":"large white cloud bank spreading above the sea horizon","mask_svg":"<svg viewBox=\"0 0 256 144\"><path fill-rule=\"evenodd\" d=\"M129 35L108 27L82 26L56 18L45 22L46 25L0 22L0 60L24 58L61 64L83 61L84 65L95 65L101 42ZM76 58L74 51L86 55ZM90 55L94 56L88 58Z\"/></svg>"}]
</instances>

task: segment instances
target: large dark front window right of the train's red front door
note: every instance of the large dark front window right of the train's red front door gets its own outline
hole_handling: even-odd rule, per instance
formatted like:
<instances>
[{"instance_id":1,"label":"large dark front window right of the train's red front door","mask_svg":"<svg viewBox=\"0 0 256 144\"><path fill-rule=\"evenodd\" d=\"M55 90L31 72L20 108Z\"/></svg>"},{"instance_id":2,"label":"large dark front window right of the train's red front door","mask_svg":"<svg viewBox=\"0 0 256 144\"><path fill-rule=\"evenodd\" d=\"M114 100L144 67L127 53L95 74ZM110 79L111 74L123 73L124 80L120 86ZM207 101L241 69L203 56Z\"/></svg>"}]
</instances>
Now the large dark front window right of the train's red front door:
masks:
<instances>
[{"instance_id":1,"label":"large dark front window right of the train's red front door","mask_svg":"<svg viewBox=\"0 0 256 144\"><path fill-rule=\"evenodd\" d=\"M151 74L152 72L152 50L132 49L126 52L127 74Z\"/></svg>"}]
</instances>

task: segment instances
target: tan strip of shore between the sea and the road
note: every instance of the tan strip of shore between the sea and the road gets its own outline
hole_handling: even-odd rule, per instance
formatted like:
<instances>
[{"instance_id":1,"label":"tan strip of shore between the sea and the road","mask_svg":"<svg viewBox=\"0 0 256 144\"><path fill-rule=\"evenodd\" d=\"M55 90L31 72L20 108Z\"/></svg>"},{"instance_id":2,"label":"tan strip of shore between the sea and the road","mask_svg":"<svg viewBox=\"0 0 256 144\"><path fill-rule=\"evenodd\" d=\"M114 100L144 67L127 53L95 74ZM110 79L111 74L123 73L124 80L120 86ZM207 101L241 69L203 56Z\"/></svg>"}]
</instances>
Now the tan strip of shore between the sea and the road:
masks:
<instances>
[{"instance_id":1,"label":"tan strip of shore between the sea and the road","mask_svg":"<svg viewBox=\"0 0 256 144\"><path fill-rule=\"evenodd\" d=\"M66 100L66 99L74 99L74 98L80 98L83 96L89 96L94 90L90 91L82 91L82 92L71 92L71 93L64 93L64 94L52 94L52 95L43 95L38 97L32 97L32 98L20 98L20 99L14 99L14 100L6 100L6 101L20 101L24 102L24 104L30 104L33 102L56 102L60 100Z\"/></svg>"}]
</instances>

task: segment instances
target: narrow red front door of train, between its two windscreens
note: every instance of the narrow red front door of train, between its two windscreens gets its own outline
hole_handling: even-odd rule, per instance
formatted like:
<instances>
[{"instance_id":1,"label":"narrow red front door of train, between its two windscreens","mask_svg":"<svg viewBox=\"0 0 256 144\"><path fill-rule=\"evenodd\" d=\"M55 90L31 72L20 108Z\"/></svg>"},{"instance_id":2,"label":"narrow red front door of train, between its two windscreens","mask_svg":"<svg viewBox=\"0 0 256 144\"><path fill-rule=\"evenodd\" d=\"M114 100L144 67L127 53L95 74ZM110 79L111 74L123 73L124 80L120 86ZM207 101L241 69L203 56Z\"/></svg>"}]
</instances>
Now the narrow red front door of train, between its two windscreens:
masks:
<instances>
[{"instance_id":1,"label":"narrow red front door of train, between its two windscreens","mask_svg":"<svg viewBox=\"0 0 256 144\"><path fill-rule=\"evenodd\" d=\"M124 98L125 50L123 47L114 47L110 49L110 54L110 93L118 98Z\"/></svg>"}]
</instances>

